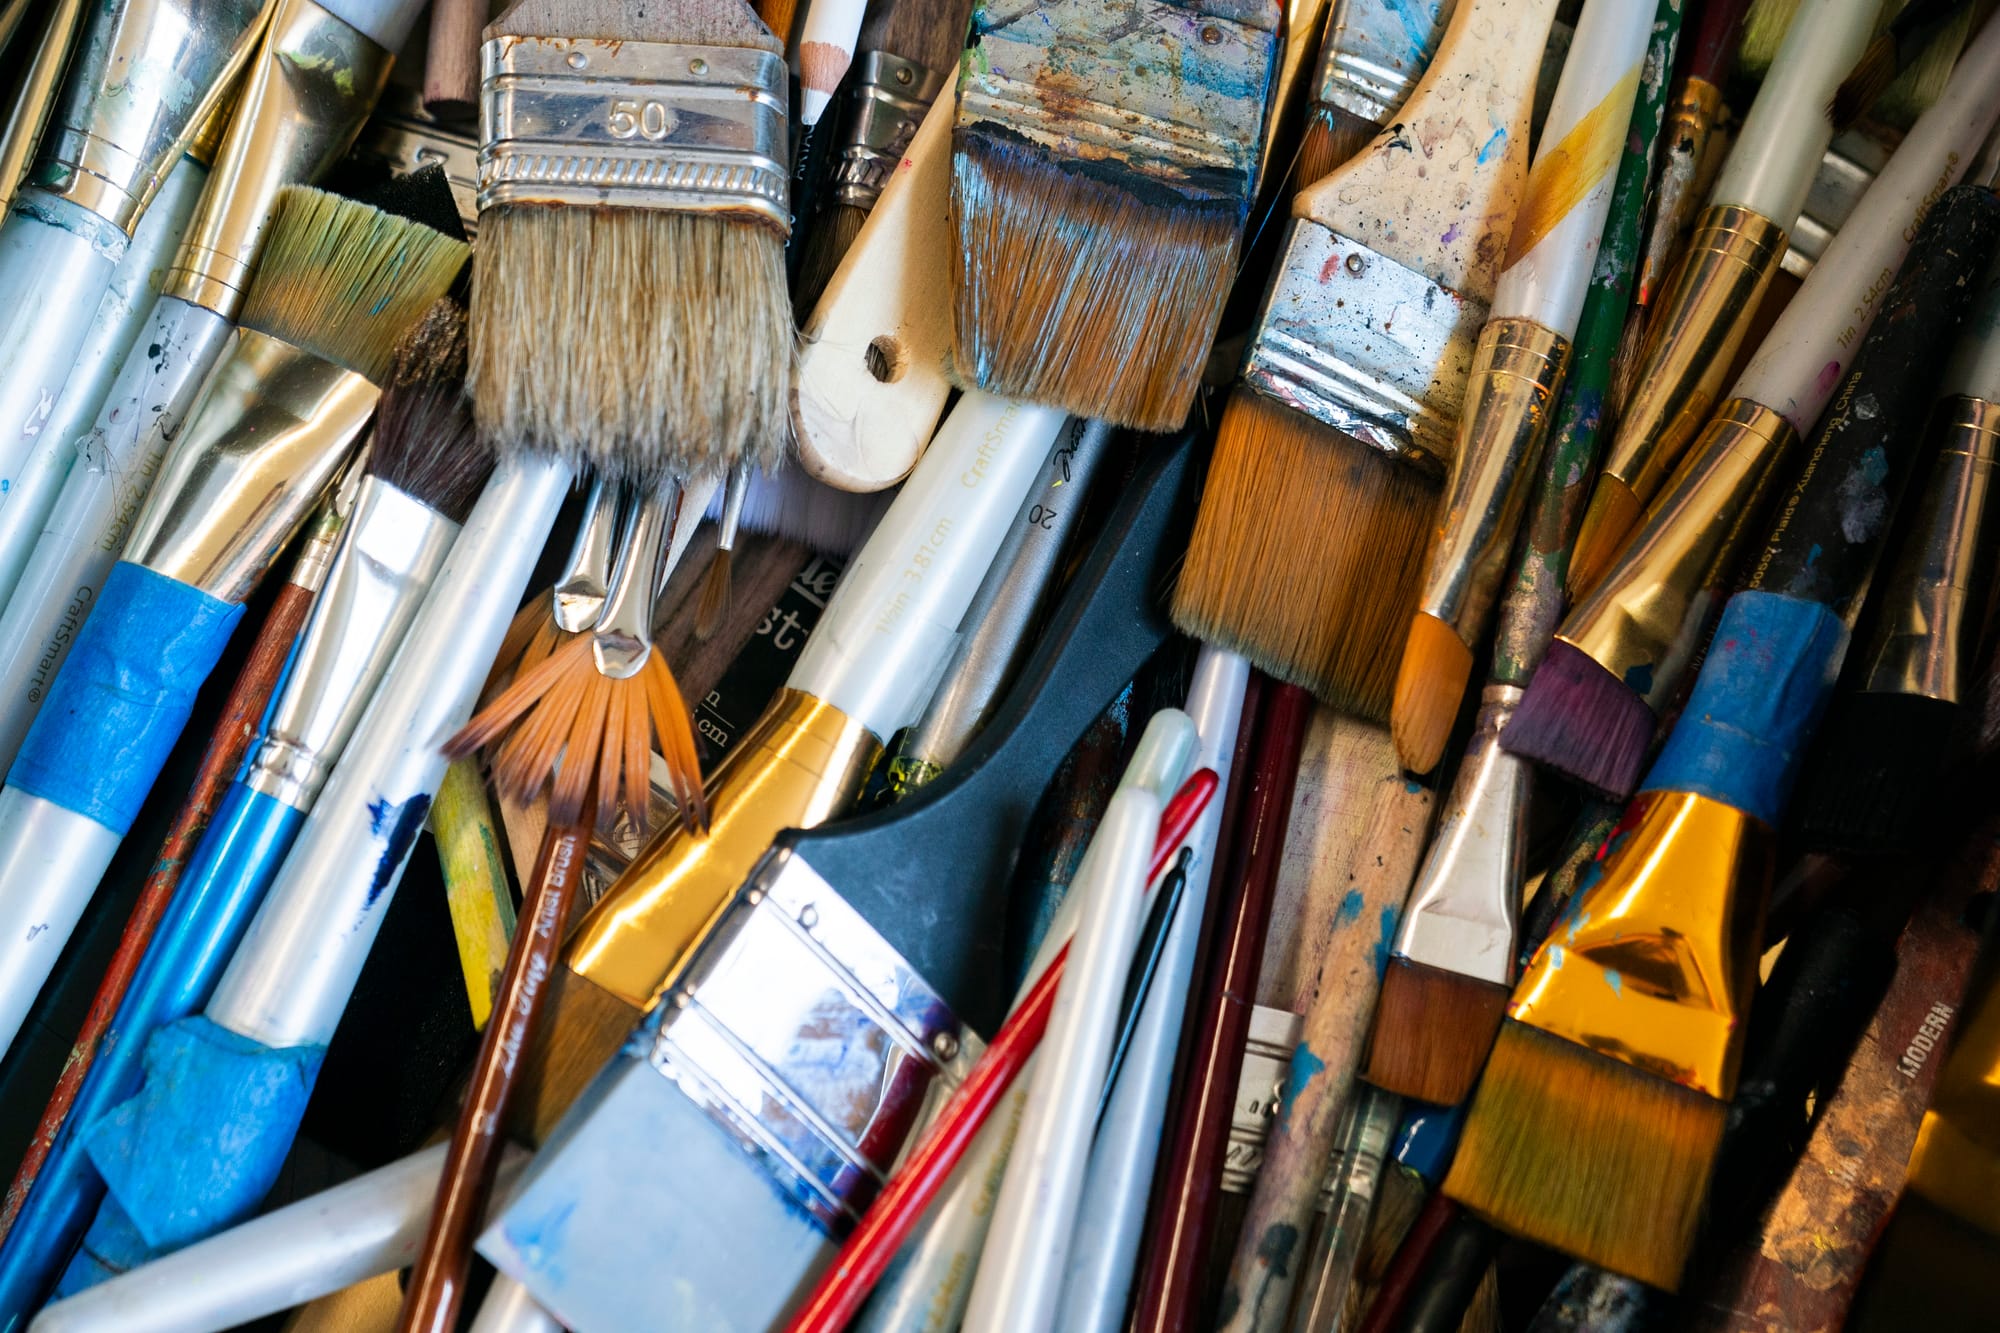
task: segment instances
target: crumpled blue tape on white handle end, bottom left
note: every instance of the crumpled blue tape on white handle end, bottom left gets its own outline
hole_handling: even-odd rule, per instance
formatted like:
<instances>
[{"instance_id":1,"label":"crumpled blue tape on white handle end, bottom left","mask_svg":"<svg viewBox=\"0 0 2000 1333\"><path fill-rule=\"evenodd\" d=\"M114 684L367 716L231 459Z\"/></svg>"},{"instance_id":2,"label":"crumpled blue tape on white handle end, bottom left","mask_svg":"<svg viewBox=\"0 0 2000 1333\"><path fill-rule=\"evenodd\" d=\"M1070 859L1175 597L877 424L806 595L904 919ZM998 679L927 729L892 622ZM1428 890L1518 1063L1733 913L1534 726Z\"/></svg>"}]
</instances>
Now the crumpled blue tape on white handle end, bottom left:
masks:
<instances>
[{"instance_id":1,"label":"crumpled blue tape on white handle end, bottom left","mask_svg":"<svg viewBox=\"0 0 2000 1333\"><path fill-rule=\"evenodd\" d=\"M292 1151L326 1047L270 1047L204 1015L146 1041L146 1087L86 1131L112 1199L154 1253L256 1211Z\"/></svg>"}]
</instances>

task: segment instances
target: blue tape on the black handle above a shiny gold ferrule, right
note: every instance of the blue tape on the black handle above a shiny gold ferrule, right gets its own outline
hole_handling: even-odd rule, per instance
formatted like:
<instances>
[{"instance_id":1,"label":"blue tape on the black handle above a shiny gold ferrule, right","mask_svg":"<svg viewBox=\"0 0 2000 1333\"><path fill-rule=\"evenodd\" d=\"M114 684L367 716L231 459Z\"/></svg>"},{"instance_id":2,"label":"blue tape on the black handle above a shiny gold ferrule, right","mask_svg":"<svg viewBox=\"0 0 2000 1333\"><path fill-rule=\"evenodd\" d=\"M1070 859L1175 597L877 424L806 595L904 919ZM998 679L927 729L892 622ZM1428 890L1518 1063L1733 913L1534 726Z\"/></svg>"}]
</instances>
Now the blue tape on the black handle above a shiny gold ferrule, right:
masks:
<instances>
[{"instance_id":1,"label":"blue tape on the black handle above a shiny gold ferrule, right","mask_svg":"<svg viewBox=\"0 0 2000 1333\"><path fill-rule=\"evenodd\" d=\"M1822 602L1732 596L1688 709L1640 791L1710 797L1776 827L1846 648L1846 622Z\"/></svg>"}]
</instances>

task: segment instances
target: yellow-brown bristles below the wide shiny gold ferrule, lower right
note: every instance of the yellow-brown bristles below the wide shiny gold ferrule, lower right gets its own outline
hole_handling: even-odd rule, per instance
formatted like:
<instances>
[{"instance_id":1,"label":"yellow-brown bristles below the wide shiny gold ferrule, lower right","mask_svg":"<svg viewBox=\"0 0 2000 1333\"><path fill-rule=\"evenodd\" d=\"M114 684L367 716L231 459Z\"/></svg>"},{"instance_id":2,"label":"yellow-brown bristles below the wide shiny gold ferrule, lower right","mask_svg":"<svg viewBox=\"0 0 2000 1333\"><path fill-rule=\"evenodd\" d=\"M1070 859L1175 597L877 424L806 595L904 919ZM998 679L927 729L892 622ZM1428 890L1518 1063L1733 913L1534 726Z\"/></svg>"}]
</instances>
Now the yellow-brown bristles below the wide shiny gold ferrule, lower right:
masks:
<instances>
[{"instance_id":1,"label":"yellow-brown bristles below the wide shiny gold ferrule, lower right","mask_svg":"<svg viewBox=\"0 0 2000 1333\"><path fill-rule=\"evenodd\" d=\"M1728 1105L1504 1023L1444 1193L1504 1231L1674 1291Z\"/></svg>"}]
</instances>

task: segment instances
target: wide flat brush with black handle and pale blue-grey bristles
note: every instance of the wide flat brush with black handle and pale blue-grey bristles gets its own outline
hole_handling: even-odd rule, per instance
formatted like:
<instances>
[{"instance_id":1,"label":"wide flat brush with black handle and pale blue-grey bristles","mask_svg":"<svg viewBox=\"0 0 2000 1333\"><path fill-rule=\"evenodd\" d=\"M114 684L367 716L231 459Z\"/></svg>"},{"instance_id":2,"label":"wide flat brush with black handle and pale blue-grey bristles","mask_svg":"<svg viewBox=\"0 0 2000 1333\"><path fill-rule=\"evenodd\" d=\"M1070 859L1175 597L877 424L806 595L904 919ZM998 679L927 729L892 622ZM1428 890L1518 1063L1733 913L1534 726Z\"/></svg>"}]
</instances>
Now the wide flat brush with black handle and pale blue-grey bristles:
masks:
<instances>
[{"instance_id":1,"label":"wide flat brush with black handle and pale blue-grey bristles","mask_svg":"<svg viewBox=\"0 0 2000 1333\"><path fill-rule=\"evenodd\" d=\"M736 1327L778 1321L878 1191L926 1089L970 1065L964 1033L1000 1027L1014 851L1068 743L1166 634L1156 596L1186 514L1188 454L1186 438L1150 450L1008 705L960 763L890 811L780 835L674 973L646 1035L544 1147L480 1253L564 1323L678 1327L676 1311ZM826 620L808 654L824 634ZM952 893L938 893L944 883ZM802 953L808 907L816 945ZM844 1017L832 1019L826 1005L856 985L824 977L834 963L846 977L894 977L902 999L894 1011L838 1001ZM774 987L798 1003L774 1009ZM704 1037L710 1025L748 1041L756 1069ZM860 1059L830 1071L816 1055L828 1039ZM690 1099L702 1087L744 1089L750 1101L732 1113ZM808 1107L810 1129L798 1119ZM634 1137L640 1125L678 1129ZM772 1145L766 1135L782 1131L792 1147L746 1153L744 1131ZM638 1145L664 1155L634 1155ZM574 1225L550 1235L546 1209L572 1205ZM648 1281L626 1281L634 1271ZM680 1295L662 1303L660 1291Z\"/></svg>"}]
</instances>

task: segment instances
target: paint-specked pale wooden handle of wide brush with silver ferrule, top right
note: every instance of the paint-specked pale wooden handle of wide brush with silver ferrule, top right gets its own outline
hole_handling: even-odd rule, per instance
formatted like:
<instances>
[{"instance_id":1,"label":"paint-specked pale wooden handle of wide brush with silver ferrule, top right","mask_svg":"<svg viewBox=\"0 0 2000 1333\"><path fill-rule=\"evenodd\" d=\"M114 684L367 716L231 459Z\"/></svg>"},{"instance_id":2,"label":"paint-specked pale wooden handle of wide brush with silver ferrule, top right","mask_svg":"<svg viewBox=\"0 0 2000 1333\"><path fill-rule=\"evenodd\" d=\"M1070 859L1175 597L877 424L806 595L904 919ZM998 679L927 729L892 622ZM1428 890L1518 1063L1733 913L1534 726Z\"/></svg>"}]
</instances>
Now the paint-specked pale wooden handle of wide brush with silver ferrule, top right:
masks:
<instances>
[{"instance_id":1,"label":"paint-specked pale wooden handle of wide brush with silver ferrule, top right","mask_svg":"<svg viewBox=\"0 0 2000 1333\"><path fill-rule=\"evenodd\" d=\"M1292 214L1492 300L1528 172L1528 118L1556 0L1460 0L1424 80Z\"/></svg>"}]
</instances>

